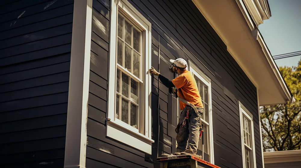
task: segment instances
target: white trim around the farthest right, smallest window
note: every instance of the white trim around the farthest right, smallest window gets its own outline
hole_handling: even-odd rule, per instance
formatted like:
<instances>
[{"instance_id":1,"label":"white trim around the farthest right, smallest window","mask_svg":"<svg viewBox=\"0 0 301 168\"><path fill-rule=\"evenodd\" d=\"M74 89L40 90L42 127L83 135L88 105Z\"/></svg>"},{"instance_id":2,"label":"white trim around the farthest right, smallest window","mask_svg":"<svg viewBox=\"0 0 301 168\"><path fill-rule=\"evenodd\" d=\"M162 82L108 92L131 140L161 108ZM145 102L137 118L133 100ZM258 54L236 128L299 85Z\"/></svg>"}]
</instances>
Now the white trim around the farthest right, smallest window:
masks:
<instances>
[{"instance_id":1,"label":"white trim around the farthest right, smallest window","mask_svg":"<svg viewBox=\"0 0 301 168\"><path fill-rule=\"evenodd\" d=\"M244 109L242 111L241 109ZM251 120L251 136L252 136L252 159L253 167L256 167L256 153L255 153L255 138L254 138L254 125L253 125L253 115L249 110L239 101L239 118L240 118L240 141L241 141L241 152L243 159L243 168L245 168L245 149L244 149L244 128L243 128L243 114Z\"/></svg>"}]
</instances>

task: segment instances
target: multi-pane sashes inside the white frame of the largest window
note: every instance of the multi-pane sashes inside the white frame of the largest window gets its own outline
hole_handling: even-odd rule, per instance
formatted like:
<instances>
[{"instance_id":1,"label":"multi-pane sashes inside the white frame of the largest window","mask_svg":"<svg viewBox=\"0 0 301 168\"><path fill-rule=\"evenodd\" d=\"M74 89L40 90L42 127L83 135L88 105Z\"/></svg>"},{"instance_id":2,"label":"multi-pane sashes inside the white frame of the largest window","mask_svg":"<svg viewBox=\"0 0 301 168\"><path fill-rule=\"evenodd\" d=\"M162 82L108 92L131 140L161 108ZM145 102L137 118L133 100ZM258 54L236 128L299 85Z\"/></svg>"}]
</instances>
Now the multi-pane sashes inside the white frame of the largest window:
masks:
<instances>
[{"instance_id":1,"label":"multi-pane sashes inside the white frame of the largest window","mask_svg":"<svg viewBox=\"0 0 301 168\"><path fill-rule=\"evenodd\" d=\"M117 16L117 67L115 118L144 134L144 110L140 110L142 31L119 11ZM141 89L140 89L141 88Z\"/></svg>"}]
</instances>

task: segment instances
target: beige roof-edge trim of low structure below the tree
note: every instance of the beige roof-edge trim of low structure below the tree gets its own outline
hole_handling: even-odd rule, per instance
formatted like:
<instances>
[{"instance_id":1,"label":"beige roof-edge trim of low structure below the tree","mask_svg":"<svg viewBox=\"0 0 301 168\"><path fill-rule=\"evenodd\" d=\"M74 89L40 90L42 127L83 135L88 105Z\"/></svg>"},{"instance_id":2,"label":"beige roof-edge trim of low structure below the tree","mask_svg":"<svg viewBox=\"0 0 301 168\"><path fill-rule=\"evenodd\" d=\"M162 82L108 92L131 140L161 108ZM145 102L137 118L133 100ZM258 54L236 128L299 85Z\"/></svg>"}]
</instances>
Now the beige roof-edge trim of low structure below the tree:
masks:
<instances>
[{"instance_id":1,"label":"beige roof-edge trim of low structure below the tree","mask_svg":"<svg viewBox=\"0 0 301 168\"><path fill-rule=\"evenodd\" d=\"M265 163L283 163L301 161L301 150L263 152Z\"/></svg>"}]
</instances>

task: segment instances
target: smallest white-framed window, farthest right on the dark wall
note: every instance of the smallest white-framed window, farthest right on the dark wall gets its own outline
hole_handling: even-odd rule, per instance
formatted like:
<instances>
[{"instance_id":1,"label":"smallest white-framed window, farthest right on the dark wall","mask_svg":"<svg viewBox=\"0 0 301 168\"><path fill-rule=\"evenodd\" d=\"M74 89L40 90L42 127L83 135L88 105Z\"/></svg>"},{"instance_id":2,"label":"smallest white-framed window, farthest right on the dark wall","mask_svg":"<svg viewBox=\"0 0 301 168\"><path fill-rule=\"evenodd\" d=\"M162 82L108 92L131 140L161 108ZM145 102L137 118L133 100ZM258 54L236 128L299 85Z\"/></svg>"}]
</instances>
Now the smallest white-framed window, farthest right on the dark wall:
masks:
<instances>
[{"instance_id":1,"label":"smallest white-framed window, farthest right on the dark wall","mask_svg":"<svg viewBox=\"0 0 301 168\"><path fill-rule=\"evenodd\" d=\"M240 135L244 168L253 168L256 165L253 115L239 102Z\"/></svg>"}]
</instances>

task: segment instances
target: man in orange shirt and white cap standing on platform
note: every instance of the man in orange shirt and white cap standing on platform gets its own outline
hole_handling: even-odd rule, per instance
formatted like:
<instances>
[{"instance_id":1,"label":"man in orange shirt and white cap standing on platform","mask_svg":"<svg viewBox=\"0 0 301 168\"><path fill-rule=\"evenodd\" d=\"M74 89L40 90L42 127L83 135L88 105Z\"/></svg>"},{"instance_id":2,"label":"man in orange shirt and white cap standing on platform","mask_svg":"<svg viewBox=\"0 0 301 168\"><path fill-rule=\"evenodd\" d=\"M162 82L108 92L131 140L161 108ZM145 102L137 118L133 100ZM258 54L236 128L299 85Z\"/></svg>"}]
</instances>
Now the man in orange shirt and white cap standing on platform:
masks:
<instances>
[{"instance_id":1,"label":"man in orange shirt and white cap standing on platform","mask_svg":"<svg viewBox=\"0 0 301 168\"><path fill-rule=\"evenodd\" d=\"M182 110L182 112L176 128L178 147L175 155L194 155L200 158L196 154L200 135L200 117L203 115L203 104L197 88L197 83L192 74L186 70L187 62L183 58L178 58L176 60L171 59L170 62L172 62L172 65L169 70L178 74L178 77L171 81L158 73L154 67L151 67L149 71L158 76L160 81L166 87L178 88L178 96L196 107L192 107L193 105L190 106L179 101L180 110ZM161 156L165 157L168 155L162 154Z\"/></svg>"}]
</instances>

